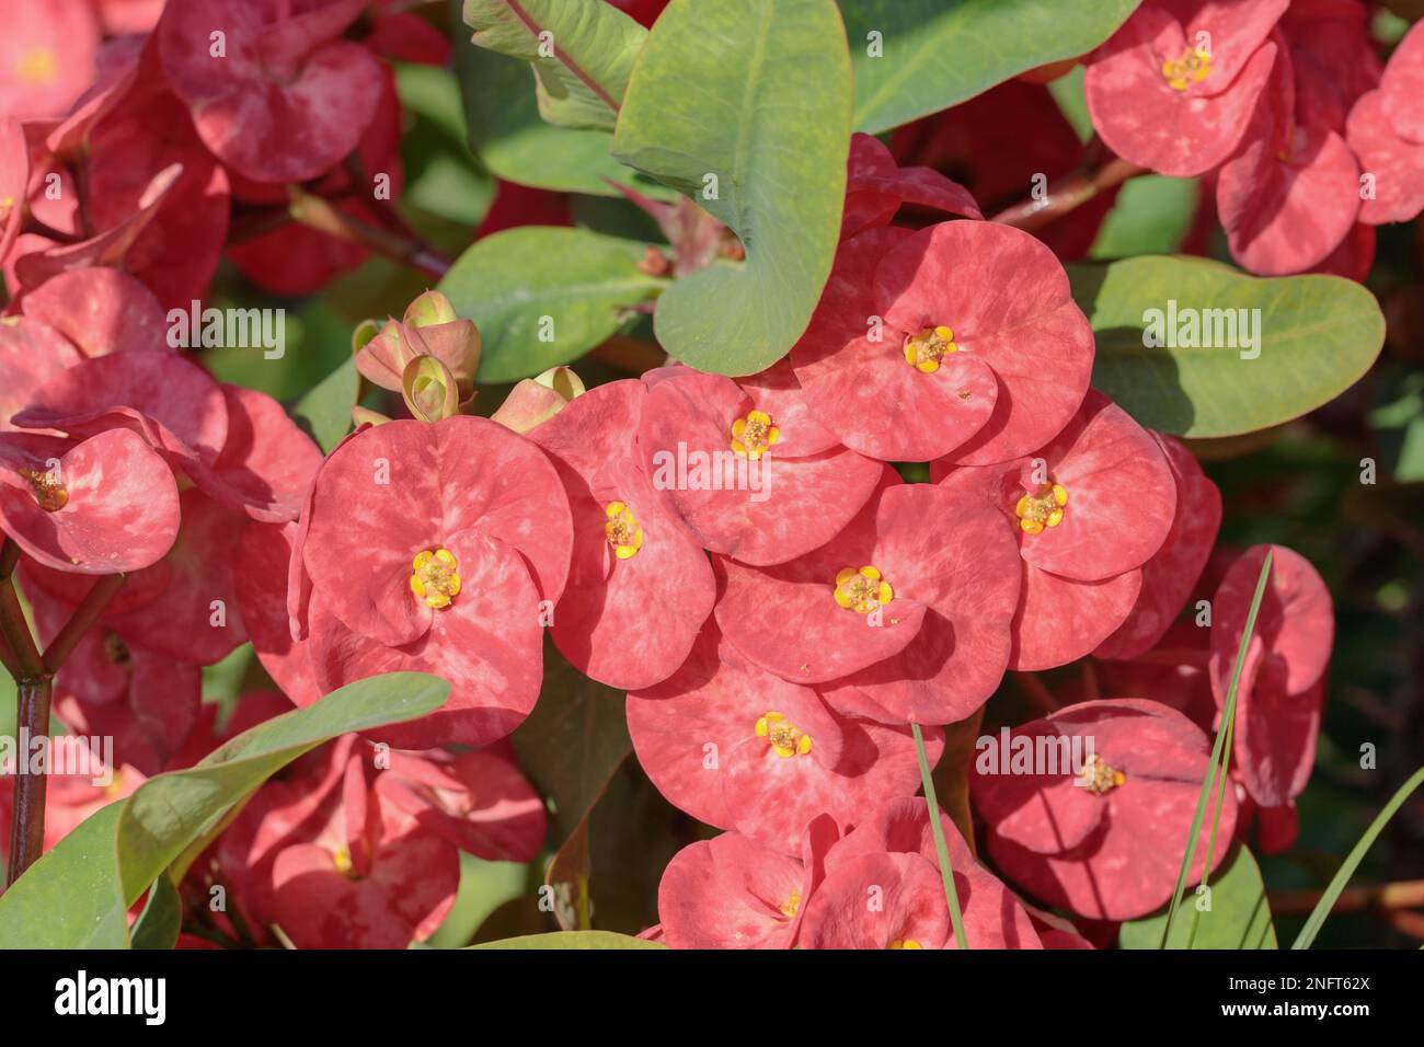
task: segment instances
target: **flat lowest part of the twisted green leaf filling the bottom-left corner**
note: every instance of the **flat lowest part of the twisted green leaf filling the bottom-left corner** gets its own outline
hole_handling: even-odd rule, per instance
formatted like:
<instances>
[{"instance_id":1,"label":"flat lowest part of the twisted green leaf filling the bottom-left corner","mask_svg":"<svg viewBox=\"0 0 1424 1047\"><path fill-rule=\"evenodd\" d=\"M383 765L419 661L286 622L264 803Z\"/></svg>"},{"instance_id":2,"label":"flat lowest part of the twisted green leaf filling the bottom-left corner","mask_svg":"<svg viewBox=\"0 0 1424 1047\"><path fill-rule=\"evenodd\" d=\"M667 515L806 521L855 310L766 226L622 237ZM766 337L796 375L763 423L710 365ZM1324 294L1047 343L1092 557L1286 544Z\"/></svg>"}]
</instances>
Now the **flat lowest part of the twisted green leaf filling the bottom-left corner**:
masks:
<instances>
[{"instance_id":1,"label":"flat lowest part of the twisted green leaf filling the bottom-left corner","mask_svg":"<svg viewBox=\"0 0 1424 1047\"><path fill-rule=\"evenodd\" d=\"M40 856L0 895L0 949L127 949L110 803Z\"/></svg>"}]
</instances>

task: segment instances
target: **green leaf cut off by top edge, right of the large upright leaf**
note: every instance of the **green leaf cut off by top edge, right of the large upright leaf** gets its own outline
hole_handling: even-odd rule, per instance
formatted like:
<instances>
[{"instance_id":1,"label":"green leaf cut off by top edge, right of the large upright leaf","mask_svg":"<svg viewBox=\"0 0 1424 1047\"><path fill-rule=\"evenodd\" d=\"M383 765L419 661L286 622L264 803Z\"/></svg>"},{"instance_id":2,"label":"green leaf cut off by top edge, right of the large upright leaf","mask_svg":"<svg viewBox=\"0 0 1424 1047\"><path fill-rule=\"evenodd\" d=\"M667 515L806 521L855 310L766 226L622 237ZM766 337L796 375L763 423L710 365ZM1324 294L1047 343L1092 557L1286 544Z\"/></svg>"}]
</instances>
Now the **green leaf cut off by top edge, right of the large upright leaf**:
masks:
<instances>
[{"instance_id":1,"label":"green leaf cut off by top edge, right of the large upright leaf","mask_svg":"<svg viewBox=\"0 0 1424 1047\"><path fill-rule=\"evenodd\" d=\"M1138 3L840 0L856 70L856 128L887 131L1035 66L1091 51Z\"/></svg>"}]
</instances>

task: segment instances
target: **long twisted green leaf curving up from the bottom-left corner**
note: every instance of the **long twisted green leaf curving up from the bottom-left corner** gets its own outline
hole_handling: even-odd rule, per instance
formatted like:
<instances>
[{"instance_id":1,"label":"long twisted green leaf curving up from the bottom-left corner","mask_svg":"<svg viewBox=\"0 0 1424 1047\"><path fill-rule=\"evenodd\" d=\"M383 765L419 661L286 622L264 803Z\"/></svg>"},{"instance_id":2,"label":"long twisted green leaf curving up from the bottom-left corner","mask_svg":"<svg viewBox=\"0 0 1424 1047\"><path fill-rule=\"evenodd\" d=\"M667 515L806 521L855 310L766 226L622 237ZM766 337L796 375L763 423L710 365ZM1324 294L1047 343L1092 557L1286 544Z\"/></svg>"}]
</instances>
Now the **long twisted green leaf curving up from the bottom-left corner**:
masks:
<instances>
[{"instance_id":1,"label":"long twisted green leaf curving up from the bottom-left corner","mask_svg":"<svg viewBox=\"0 0 1424 1047\"><path fill-rule=\"evenodd\" d=\"M130 906L271 775L337 735L433 712L449 694L423 672L372 677L245 731L197 766L150 778L0 895L0 947L125 947Z\"/></svg>"}]
</instances>

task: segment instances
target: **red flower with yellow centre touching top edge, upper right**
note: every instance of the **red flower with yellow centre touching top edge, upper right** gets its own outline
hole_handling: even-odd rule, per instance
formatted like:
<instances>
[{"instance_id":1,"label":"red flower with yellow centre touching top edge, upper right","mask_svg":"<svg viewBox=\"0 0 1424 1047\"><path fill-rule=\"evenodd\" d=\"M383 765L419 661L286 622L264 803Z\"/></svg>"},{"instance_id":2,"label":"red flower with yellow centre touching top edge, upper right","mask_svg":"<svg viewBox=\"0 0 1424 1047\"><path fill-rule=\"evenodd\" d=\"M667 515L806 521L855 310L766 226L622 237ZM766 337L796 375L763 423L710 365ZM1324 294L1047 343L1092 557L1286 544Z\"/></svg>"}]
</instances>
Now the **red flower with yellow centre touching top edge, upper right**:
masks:
<instances>
[{"instance_id":1,"label":"red flower with yellow centre touching top edge, upper right","mask_svg":"<svg viewBox=\"0 0 1424 1047\"><path fill-rule=\"evenodd\" d=\"M1289 0L1146 0L1088 60L1092 125L1124 160L1188 178L1242 141Z\"/></svg>"}]
</instances>

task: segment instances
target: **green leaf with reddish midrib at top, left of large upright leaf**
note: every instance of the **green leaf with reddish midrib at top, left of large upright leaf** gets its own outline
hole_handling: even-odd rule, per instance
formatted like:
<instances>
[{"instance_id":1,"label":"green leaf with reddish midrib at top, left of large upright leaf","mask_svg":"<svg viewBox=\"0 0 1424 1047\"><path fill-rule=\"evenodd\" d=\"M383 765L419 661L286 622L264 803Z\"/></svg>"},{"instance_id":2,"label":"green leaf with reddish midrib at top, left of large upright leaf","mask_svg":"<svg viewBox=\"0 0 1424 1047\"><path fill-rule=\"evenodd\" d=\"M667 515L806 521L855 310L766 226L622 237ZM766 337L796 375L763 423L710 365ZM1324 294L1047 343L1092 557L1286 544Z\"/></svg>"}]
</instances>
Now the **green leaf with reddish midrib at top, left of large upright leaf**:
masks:
<instances>
[{"instance_id":1,"label":"green leaf with reddish midrib at top, left of large upright leaf","mask_svg":"<svg viewBox=\"0 0 1424 1047\"><path fill-rule=\"evenodd\" d=\"M474 44L527 61L540 115L611 131L648 31L604 0L464 0Z\"/></svg>"}]
</instances>

